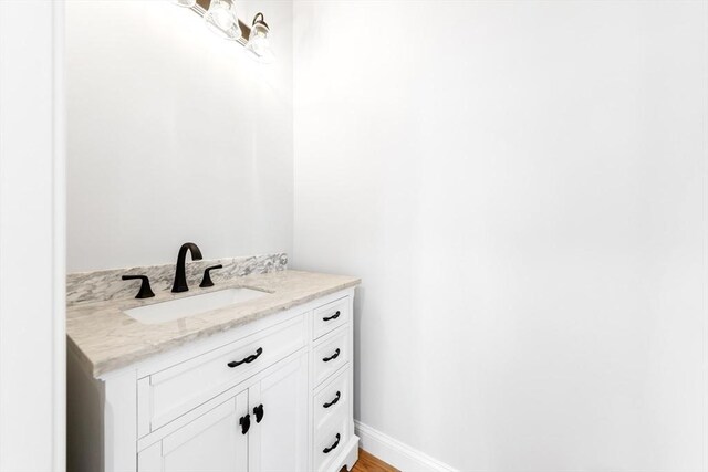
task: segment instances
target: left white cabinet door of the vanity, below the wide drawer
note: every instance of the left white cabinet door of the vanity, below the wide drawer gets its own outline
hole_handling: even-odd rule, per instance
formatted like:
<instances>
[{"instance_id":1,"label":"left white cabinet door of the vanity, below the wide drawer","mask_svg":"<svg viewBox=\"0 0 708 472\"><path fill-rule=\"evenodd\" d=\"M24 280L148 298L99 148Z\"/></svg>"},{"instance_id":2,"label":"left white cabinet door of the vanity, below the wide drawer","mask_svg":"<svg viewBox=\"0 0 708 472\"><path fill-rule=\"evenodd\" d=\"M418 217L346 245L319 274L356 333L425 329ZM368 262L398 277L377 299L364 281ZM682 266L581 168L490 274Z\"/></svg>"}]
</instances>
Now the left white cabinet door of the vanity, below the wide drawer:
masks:
<instances>
[{"instance_id":1,"label":"left white cabinet door of the vanity, below the wide drawer","mask_svg":"<svg viewBox=\"0 0 708 472\"><path fill-rule=\"evenodd\" d=\"M242 391L140 451L138 472L247 472L248 434L239 423L247 413Z\"/></svg>"}]
</instances>

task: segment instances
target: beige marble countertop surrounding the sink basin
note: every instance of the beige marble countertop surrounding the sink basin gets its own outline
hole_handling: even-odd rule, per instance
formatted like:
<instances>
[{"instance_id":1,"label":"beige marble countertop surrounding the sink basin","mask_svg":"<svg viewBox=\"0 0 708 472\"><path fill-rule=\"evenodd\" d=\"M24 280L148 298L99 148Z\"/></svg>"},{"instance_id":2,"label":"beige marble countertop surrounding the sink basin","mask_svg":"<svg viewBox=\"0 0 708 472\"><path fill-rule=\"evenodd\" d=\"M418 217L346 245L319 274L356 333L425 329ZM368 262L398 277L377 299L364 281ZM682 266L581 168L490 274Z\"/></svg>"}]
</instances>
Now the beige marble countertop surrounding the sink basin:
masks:
<instances>
[{"instance_id":1,"label":"beige marble countertop surrounding the sink basin","mask_svg":"<svg viewBox=\"0 0 708 472\"><path fill-rule=\"evenodd\" d=\"M346 275L285 270L236 277L210 289L192 287L189 292L178 294L156 293L154 298L147 300L87 302L67 307L66 335L87 370L97 378L191 340L222 333L358 283L358 279ZM269 295L154 325L142 324L123 313L127 308L232 287L261 290L269 292Z\"/></svg>"}]
</instances>

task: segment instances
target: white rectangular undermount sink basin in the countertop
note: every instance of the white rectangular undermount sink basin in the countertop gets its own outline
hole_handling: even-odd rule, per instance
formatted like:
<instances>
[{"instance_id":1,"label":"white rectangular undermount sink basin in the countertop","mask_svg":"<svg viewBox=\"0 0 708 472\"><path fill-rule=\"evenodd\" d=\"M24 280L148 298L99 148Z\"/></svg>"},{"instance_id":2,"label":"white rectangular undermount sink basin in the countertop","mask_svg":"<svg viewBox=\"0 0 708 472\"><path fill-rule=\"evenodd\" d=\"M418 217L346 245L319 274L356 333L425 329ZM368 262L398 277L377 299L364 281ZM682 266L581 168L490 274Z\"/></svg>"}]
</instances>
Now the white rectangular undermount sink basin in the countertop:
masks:
<instances>
[{"instance_id":1,"label":"white rectangular undermount sink basin in the countertop","mask_svg":"<svg viewBox=\"0 0 708 472\"><path fill-rule=\"evenodd\" d=\"M124 310L123 313L143 324L156 325L259 298L268 294L268 292L253 289L225 289L218 292L202 293L185 298Z\"/></svg>"}]
</instances>

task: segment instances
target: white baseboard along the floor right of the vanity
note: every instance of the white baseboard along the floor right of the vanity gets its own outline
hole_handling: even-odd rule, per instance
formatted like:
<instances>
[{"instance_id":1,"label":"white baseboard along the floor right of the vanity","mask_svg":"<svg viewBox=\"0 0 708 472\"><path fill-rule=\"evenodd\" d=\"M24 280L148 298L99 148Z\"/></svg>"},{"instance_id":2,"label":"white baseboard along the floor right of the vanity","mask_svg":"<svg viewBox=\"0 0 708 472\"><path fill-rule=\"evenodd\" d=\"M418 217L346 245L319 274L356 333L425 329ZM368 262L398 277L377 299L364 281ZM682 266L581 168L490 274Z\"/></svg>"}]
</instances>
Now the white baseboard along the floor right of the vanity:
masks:
<instances>
[{"instance_id":1,"label":"white baseboard along the floor right of the vanity","mask_svg":"<svg viewBox=\"0 0 708 472\"><path fill-rule=\"evenodd\" d=\"M360 447L402 472L458 472L437 459L404 444L360 421L354 421Z\"/></svg>"}]
</instances>

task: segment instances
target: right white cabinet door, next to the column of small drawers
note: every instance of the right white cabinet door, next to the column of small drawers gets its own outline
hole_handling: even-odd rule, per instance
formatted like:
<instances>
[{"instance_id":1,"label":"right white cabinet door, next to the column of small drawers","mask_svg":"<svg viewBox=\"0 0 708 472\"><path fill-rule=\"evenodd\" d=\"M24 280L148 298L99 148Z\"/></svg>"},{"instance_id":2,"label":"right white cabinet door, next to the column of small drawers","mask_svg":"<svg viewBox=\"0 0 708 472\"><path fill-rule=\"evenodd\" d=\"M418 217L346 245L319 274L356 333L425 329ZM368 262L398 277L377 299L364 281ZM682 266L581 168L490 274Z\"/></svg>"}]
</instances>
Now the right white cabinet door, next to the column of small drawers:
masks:
<instances>
[{"instance_id":1,"label":"right white cabinet door, next to the column of small drawers","mask_svg":"<svg viewBox=\"0 0 708 472\"><path fill-rule=\"evenodd\" d=\"M308 471L306 353L253 385L249 398L249 472Z\"/></svg>"}]
</instances>

